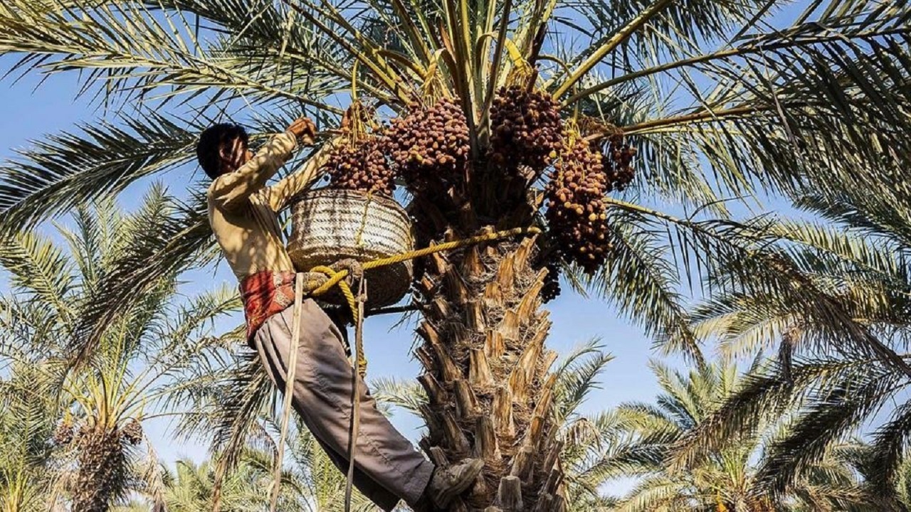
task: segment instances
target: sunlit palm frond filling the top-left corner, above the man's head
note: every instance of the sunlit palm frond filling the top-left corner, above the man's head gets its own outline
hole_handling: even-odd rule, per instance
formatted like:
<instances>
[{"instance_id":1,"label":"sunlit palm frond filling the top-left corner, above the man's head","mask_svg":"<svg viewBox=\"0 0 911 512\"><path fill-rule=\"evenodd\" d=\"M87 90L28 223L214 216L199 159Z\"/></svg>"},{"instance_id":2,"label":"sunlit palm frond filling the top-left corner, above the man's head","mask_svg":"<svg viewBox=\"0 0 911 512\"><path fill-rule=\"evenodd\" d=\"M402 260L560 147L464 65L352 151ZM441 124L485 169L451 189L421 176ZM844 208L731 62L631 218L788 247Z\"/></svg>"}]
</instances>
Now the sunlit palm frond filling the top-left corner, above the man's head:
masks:
<instances>
[{"instance_id":1,"label":"sunlit palm frond filling the top-left corner, above the man's head","mask_svg":"<svg viewBox=\"0 0 911 512\"><path fill-rule=\"evenodd\" d=\"M225 5L229 4L220 4ZM251 9L241 13L256 14ZM307 72L302 80L295 79L294 65L287 60L273 56L257 65L255 59L242 58L242 47L231 51L230 40L200 37L179 9L159 8L153 13L132 1L74 5L65 0L17 0L0 10L0 26L5 34L0 51L25 54L15 67L46 73L83 70L86 89L100 89L106 99L210 95L256 103L281 97L337 111L312 99L335 90L318 68L299 64ZM295 41L303 46L312 39L300 29L296 35L300 37ZM272 40L268 47L275 56L280 41ZM270 69L273 66L278 68Z\"/></svg>"}]
</instances>

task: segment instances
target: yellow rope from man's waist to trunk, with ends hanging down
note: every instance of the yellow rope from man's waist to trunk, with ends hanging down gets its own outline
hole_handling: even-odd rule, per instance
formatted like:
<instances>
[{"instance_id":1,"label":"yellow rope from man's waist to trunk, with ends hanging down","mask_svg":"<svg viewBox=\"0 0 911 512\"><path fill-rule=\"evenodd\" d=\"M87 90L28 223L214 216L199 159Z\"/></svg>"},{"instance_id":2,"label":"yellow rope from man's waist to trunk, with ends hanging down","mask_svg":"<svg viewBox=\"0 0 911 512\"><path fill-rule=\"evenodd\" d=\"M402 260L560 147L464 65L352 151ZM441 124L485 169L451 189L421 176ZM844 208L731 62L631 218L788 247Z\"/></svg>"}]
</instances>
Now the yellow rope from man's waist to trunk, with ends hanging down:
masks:
<instances>
[{"instance_id":1,"label":"yellow rope from man's waist to trunk, with ends hanging down","mask_svg":"<svg viewBox=\"0 0 911 512\"><path fill-rule=\"evenodd\" d=\"M487 241L498 241L514 236L527 236L535 235L540 233L541 230L534 226L528 228L514 228L512 230L502 230L494 231L490 233L485 233L483 235L477 235L474 237L469 237L457 241L447 241L444 243L432 245L430 247L425 247L424 249L418 249L415 251L407 251L401 254L396 254L388 258L381 258L379 260L367 261L363 263L361 268L363 271L369 271L371 269L376 269L386 265L393 265L395 263L401 263L403 261L415 260L416 258L422 258L424 256L429 256L430 254L435 254L437 252L443 251L453 251L455 249L460 249L463 247L470 247L477 245L479 243L484 243ZM313 274L322 274L325 275L328 279L322 284L319 284L315 281L304 281L304 276L308 273ZM363 272L360 272L363 274ZM353 484L353 468L354 468L354 451L356 447L355 438L357 431L359 430L359 407L360 407L360 394L358 393L358 385L360 381L367 375L367 360L363 356L363 302L366 299L366 280L361 276L359 280L359 293L355 297L354 292L352 292L351 285L345 281L351 275L349 269L342 269L336 271L330 267L320 265L313 267L310 272L298 272L297 278L295 280L294 286L294 312L293 312L293 323L292 323L292 353L289 355L289 364L288 369L285 375L285 396L284 396L284 411L281 415L281 435L279 437L279 449L278 457L275 466L275 476L272 483L272 499L270 511L275 512L276 504L278 503L279 490L281 486L281 460L284 450L285 440L288 435L288 423L291 416L291 399L294 390L294 374L296 370L296 361L297 361L297 351L299 336L300 336L300 323L301 323L301 308L303 303L303 297L319 297L323 293L329 292L333 287L338 286L341 289L345 302L348 303L348 307L351 309L352 319L354 321L354 360L356 364L357 371L353 373L353 395L352 395L352 424L351 424L351 433L349 435L348 445L348 479L345 486L345 511L349 512L351 510L351 495L352 495L352 484ZM308 288L304 290L304 288Z\"/></svg>"}]
</instances>

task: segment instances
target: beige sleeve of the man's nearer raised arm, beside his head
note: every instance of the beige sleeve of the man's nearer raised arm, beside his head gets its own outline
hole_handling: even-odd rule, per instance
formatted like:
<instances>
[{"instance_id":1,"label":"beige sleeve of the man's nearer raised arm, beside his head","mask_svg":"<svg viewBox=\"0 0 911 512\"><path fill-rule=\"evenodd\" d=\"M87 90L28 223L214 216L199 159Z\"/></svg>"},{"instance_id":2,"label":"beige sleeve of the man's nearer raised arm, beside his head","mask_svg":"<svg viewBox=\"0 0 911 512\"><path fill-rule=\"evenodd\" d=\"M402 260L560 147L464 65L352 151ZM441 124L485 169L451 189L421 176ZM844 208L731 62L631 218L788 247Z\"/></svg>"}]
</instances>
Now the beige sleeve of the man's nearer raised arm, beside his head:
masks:
<instances>
[{"instance_id":1,"label":"beige sleeve of the man's nearer raised arm, beside his head","mask_svg":"<svg viewBox=\"0 0 911 512\"><path fill-rule=\"evenodd\" d=\"M297 138L291 133L284 132L270 138L241 169L212 182L210 200L226 210L243 204L253 192L266 186L266 182L291 158L295 148Z\"/></svg>"}]
</instances>

